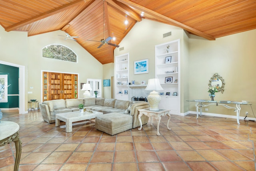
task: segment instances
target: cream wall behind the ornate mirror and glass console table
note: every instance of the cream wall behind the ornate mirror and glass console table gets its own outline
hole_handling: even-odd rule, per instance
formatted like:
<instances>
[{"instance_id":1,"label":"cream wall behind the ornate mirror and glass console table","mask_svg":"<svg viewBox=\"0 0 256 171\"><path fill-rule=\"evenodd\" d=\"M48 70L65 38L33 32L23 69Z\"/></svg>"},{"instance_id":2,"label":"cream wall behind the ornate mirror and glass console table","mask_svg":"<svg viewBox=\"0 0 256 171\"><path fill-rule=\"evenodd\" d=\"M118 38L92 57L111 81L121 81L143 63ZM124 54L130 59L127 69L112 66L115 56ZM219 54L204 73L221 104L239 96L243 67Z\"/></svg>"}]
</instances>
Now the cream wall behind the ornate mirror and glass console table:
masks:
<instances>
[{"instance_id":1,"label":"cream wall behind the ornate mirror and glass console table","mask_svg":"<svg viewBox=\"0 0 256 171\"><path fill-rule=\"evenodd\" d=\"M190 35L189 89L190 99L209 99L208 83L214 73L225 81L224 93L217 92L214 100L248 100L256 112L256 29L209 41ZM255 118L250 106L241 105L240 116ZM209 113L234 115L223 106L208 106ZM190 110L196 111L194 103ZM205 112L205 111L203 111Z\"/></svg>"}]
</instances>

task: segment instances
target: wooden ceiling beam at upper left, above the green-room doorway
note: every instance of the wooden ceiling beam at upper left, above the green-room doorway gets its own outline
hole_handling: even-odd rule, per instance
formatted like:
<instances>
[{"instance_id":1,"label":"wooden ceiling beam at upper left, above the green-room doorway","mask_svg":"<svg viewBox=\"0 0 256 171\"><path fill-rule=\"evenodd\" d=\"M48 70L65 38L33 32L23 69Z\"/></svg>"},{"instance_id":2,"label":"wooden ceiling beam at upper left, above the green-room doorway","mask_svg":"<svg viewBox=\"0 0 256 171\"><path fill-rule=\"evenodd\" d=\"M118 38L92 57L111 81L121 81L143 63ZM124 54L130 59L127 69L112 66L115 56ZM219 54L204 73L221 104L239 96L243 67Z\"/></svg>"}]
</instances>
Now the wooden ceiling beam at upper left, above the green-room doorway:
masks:
<instances>
[{"instance_id":1,"label":"wooden ceiling beam at upper left, above the green-room doorway","mask_svg":"<svg viewBox=\"0 0 256 171\"><path fill-rule=\"evenodd\" d=\"M90 0L76 0L76 1L71 2L69 4L65 4L65 5L60 6L58 8L55 8L53 10L50 10L50 11L44 12L42 14L39 14L38 16L34 16L32 18L28 18L27 20L23 20L22 22L18 22L16 24L13 24L12 26L6 27L5 31L12 31L12 30L17 29L19 27L25 26L25 25L30 24L32 22L36 22L38 20L42 20L42 19L44 19L46 17L52 16L54 14L57 14L59 12L62 12L64 10L67 10L69 8L72 8L74 6L77 6L77 5L81 4L81 3L88 2L88 1L90 1Z\"/></svg>"}]
</instances>

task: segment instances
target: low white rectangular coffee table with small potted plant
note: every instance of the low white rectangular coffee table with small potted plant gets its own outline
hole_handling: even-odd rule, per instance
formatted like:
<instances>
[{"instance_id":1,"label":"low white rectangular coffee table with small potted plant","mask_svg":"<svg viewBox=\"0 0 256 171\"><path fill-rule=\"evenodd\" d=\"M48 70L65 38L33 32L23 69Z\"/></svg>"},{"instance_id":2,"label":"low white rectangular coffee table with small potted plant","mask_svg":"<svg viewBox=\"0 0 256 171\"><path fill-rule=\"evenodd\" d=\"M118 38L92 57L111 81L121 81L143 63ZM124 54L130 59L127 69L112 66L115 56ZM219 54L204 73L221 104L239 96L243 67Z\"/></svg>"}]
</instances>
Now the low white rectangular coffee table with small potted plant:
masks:
<instances>
[{"instance_id":1,"label":"low white rectangular coffee table with small potted plant","mask_svg":"<svg viewBox=\"0 0 256 171\"><path fill-rule=\"evenodd\" d=\"M72 122L78 122L81 120L88 120L95 118L98 115L103 114L102 112L97 112L91 110L93 113L85 111L84 113L75 112L66 112L59 113L55 115L55 126L60 126L60 120L66 122L66 132L72 132Z\"/></svg>"}]
</instances>

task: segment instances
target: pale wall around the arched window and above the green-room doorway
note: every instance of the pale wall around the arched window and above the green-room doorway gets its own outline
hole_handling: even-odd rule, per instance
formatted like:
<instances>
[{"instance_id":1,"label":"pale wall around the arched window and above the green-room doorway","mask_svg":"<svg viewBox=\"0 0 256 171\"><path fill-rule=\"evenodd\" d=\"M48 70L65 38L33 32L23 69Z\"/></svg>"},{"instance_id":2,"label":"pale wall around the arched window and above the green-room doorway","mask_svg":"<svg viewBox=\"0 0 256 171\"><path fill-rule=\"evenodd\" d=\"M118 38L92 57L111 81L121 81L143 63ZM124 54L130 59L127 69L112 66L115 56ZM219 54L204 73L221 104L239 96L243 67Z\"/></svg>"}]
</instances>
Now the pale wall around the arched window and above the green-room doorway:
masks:
<instances>
[{"instance_id":1,"label":"pale wall around the arched window and above the green-room doorway","mask_svg":"<svg viewBox=\"0 0 256 171\"><path fill-rule=\"evenodd\" d=\"M29 99L42 100L42 71L54 71L61 73L77 73L80 83L86 83L87 79L103 79L103 66L78 43L72 40L64 41L58 35L65 35L63 31L53 31L41 35L27 37L26 32L4 31L0 26L0 61L25 66L25 104L27 110ZM42 48L49 44L61 44L72 49L78 56L78 63L47 59L42 57ZM33 87L33 89L30 89ZM32 94L28 94L32 91ZM79 97L83 98L83 91Z\"/></svg>"}]
</instances>

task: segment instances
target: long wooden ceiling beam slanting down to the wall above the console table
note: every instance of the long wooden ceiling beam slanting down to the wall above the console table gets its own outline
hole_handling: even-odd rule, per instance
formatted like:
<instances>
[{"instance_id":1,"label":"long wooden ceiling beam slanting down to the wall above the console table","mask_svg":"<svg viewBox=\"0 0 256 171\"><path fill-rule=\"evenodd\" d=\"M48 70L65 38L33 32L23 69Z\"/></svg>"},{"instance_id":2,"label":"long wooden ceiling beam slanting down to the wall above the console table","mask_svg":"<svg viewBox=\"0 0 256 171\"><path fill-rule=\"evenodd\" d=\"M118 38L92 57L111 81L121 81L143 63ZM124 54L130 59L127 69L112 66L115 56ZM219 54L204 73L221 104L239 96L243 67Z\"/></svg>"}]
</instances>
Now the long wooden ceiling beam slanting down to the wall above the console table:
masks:
<instances>
[{"instance_id":1,"label":"long wooden ceiling beam slanting down to the wall above the console table","mask_svg":"<svg viewBox=\"0 0 256 171\"><path fill-rule=\"evenodd\" d=\"M126 5L128 5L128 6L131 6L131 7L133 7L133 8L136 8L136 9L138 9L138 10L141 10L141 11L143 11L143 12L145 12L145 13L151 15L151 16L154 16L154 17L156 17L158 20L162 20L163 22L166 22L166 23L168 23L168 24L171 24L171 25L174 25L174 26L178 26L178 27L180 27L180 28L182 28L182 29L185 29L186 31L189 31L189 32L191 32L191 33L194 33L195 35L198 35L198 36L200 36L200 37L204 37L204 38L206 38L206 39L208 39L208 40L215 40L215 38L214 38L213 36L211 36L211 35L208 35L208 34L202 32L202 31L199 31L199 30L197 30L197 29L191 28L190 26L187 26L187 25L182 24L182 23L180 23L180 22L177 22L177 21L175 21L175 20L172 20L171 18L168 18L168 17L166 17L166 16L163 16L163 15L157 13L157 12L154 12L154 11L148 9L148 8L145 8L145 7L143 7L143 6L140 6L140 5L138 5L138 4L135 4L134 2L131 2L131 1L129 1L129 0L117 0L117 1L119 1L119 2L121 2L121 3L123 3L123 4L126 4ZM157 21L157 22L159 22L159 21Z\"/></svg>"}]
</instances>

